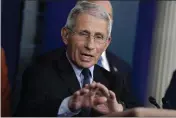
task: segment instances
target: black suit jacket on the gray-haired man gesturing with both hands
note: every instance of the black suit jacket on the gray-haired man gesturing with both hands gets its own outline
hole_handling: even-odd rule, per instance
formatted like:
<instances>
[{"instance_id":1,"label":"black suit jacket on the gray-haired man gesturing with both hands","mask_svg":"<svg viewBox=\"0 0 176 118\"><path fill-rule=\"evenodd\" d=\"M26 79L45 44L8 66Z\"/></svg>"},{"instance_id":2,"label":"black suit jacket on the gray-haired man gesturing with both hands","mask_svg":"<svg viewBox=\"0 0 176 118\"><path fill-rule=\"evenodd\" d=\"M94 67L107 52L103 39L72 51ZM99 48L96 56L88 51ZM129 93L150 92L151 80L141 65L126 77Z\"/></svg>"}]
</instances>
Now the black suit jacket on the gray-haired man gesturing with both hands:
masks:
<instances>
[{"instance_id":1,"label":"black suit jacket on the gray-haired man gesturing with both hands","mask_svg":"<svg viewBox=\"0 0 176 118\"><path fill-rule=\"evenodd\" d=\"M53 55L54 54L54 55ZM80 89L74 70L63 49L50 53L52 58L37 61L23 74L21 100L16 116L57 116L64 98ZM43 59L43 58L42 58ZM118 79L116 79L116 77ZM135 101L126 89L124 76L106 71L95 65L94 81L104 84L116 93L117 100L123 101L127 108L134 107ZM83 116L81 112L77 116ZM91 110L90 116L100 116Z\"/></svg>"}]
</instances>

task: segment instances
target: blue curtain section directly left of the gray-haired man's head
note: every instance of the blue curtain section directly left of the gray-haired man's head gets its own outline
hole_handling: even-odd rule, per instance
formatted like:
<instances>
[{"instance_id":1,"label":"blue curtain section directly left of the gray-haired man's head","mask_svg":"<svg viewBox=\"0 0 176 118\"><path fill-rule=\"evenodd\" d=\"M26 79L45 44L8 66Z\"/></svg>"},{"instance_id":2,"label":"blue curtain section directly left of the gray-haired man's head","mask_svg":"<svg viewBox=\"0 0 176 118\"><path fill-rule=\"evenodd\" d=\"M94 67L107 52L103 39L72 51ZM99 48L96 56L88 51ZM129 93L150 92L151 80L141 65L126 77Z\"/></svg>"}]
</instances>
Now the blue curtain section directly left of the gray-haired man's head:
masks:
<instances>
[{"instance_id":1,"label":"blue curtain section directly left of the gray-haired man's head","mask_svg":"<svg viewBox=\"0 0 176 118\"><path fill-rule=\"evenodd\" d=\"M41 53L63 46L61 28L65 25L76 0L47 1L44 12L44 32Z\"/></svg>"}]
</instances>

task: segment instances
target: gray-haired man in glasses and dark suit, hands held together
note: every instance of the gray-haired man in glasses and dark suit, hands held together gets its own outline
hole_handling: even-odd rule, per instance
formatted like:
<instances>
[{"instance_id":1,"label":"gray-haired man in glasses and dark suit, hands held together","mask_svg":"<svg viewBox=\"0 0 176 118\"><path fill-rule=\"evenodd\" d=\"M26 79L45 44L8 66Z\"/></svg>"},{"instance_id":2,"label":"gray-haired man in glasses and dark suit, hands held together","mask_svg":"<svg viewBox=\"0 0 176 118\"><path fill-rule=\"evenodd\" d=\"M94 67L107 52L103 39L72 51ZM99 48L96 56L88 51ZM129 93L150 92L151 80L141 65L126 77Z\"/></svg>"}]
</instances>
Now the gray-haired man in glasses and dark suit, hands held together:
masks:
<instances>
[{"instance_id":1,"label":"gray-haired man in glasses and dark suit, hands held together","mask_svg":"<svg viewBox=\"0 0 176 118\"><path fill-rule=\"evenodd\" d=\"M122 111L122 103L134 107L124 76L96 65L111 42L111 27L101 6L77 4L61 31L66 49L25 70L16 116L100 116Z\"/></svg>"}]
</instances>

